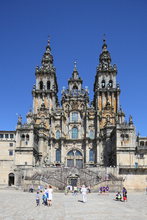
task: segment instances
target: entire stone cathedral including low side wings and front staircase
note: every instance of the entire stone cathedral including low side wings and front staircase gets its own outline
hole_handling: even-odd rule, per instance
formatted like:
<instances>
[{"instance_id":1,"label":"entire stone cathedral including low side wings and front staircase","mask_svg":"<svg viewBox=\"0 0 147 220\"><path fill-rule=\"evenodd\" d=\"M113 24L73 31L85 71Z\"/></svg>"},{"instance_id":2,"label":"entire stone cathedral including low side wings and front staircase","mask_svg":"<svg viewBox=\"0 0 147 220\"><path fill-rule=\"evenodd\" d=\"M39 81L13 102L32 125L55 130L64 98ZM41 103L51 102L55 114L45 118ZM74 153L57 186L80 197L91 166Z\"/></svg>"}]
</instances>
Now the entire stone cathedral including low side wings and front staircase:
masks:
<instances>
[{"instance_id":1,"label":"entire stone cathedral including low side wings and front staircase","mask_svg":"<svg viewBox=\"0 0 147 220\"><path fill-rule=\"evenodd\" d=\"M89 172L91 178L97 176L97 183L106 175L112 177L113 173L113 178L121 177L128 187L140 189L134 185L134 179L137 184L141 180L144 187L147 137L136 135L132 116L126 122L119 103L120 87L116 75L117 66L111 64L104 40L93 101L89 100L88 89L82 86L75 62L68 88L62 90L60 105L56 69L48 41L41 66L36 67L33 109L26 116L27 122L22 124L19 116L16 131L0 131L0 184L22 185L25 180L35 180L34 175L41 178L45 172L44 178L51 183L47 173L57 173L58 168L64 173L64 181L56 175L62 185L75 185L76 180L79 184L86 183L89 181L87 176L80 182L80 178L84 178L81 172L84 175Z\"/></svg>"}]
</instances>

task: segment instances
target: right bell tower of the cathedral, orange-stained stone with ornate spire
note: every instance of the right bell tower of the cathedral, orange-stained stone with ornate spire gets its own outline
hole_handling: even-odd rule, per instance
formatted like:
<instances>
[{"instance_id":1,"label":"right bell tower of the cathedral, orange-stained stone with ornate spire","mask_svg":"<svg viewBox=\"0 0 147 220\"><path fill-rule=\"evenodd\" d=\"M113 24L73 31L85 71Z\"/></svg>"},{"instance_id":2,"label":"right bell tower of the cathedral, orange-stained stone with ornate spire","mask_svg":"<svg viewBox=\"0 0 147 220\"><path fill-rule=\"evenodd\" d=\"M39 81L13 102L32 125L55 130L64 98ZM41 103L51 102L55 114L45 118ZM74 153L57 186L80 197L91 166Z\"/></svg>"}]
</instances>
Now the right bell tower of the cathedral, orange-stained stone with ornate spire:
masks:
<instances>
[{"instance_id":1,"label":"right bell tower of the cathedral, orange-stained stone with ornate spire","mask_svg":"<svg viewBox=\"0 0 147 220\"><path fill-rule=\"evenodd\" d=\"M111 65L111 56L103 40L102 53L94 83L94 106L99 112L100 128L115 125L119 108L119 85L116 83L117 67Z\"/></svg>"}]
</instances>

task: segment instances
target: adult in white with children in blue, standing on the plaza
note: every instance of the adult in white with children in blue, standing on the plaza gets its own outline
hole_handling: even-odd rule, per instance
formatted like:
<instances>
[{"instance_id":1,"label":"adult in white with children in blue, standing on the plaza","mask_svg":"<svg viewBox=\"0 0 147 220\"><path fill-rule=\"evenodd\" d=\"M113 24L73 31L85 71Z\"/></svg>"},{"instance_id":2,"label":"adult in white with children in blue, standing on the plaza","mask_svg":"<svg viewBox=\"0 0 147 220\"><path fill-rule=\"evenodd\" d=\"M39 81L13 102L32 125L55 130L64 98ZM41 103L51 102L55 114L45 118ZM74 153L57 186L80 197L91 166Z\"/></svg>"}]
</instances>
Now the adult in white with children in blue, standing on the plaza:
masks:
<instances>
[{"instance_id":1,"label":"adult in white with children in blue, standing on the plaza","mask_svg":"<svg viewBox=\"0 0 147 220\"><path fill-rule=\"evenodd\" d=\"M52 199L53 199L53 189L52 186L49 185L45 187L44 191L38 190L36 193L36 205L40 205L40 197L42 196L42 204L45 206L52 206Z\"/></svg>"}]
</instances>

